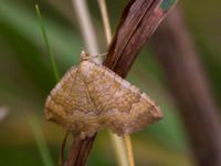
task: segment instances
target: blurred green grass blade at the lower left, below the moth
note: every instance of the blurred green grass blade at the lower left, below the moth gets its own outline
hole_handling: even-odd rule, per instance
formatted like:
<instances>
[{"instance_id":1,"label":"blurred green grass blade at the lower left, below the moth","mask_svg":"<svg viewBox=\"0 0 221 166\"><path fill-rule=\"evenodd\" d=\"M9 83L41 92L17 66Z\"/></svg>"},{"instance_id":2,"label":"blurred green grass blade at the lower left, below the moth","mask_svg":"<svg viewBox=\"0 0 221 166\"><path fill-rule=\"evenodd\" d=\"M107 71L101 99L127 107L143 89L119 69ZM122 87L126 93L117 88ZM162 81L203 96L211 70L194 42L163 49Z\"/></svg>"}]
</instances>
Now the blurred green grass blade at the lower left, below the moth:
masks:
<instances>
[{"instance_id":1,"label":"blurred green grass blade at the lower left, below the moth","mask_svg":"<svg viewBox=\"0 0 221 166\"><path fill-rule=\"evenodd\" d=\"M27 114L27 118L28 118L29 125L32 129L32 133L34 135L34 138L35 138L35 142L36 142L36 145L38 145L38 148L39 148L39 152L40 152L40 155L41 155L44 166L54 166L53 160L50 155L50 151L48 148L46 142L44 139L43 133L41 131L41 127L38 123L36 117L34 115Z\"/></svg>"}]
</instances>

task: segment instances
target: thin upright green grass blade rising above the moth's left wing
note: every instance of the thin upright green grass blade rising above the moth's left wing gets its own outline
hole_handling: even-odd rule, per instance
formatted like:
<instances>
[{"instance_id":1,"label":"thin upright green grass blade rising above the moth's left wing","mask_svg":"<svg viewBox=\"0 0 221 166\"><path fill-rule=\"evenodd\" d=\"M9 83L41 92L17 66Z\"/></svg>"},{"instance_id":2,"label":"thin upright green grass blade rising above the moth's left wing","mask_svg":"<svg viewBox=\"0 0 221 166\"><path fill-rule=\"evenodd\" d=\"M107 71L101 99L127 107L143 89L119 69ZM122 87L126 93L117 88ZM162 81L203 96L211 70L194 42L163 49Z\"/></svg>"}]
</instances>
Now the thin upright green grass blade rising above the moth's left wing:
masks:
<instances>
[{"instance_id":1,"label":"thin upright green grass blade rising above the moth's left wing","mask_svg":"<svg viewBox=\"0 0 221 166\"><path fill-rule=\"evenodd\" d=\"M53 71L54 71L54 76L55 76L56 81L59 82L60 75L59 75L57 66L56 66L56 63L55 63L55 60L54 60L54 55L52 53L52 50L51 50L51 46L50 46L50 43L49 43L49 39L48 39L48 35L46 35L46 30L44 28L43 18L42 18L42 14L40 12L40 9L39 9L38 4L35 6L35 10L36 10L36 13L38 13L38 17L39 17L40 28L41 28L42 35L43 35L43 39L44 39L44 43L45 43L48 53L49 53L50 59L51 59L52 68L53 68Z\"/></svg>"}]
</instances>

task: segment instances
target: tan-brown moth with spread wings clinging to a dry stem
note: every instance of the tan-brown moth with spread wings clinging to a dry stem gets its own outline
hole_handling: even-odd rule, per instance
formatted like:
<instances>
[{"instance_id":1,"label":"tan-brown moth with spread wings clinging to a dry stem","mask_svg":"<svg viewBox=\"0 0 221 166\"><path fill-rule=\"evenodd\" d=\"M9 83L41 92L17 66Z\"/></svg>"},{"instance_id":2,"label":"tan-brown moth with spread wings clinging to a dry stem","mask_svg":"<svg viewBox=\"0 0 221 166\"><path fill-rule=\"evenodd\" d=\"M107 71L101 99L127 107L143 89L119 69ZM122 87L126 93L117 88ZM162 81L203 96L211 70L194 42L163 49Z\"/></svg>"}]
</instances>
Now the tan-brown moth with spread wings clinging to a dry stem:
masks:
<instances>
[{"instance_id":1,"label":"tan-brown moth with spread wings clinging to a dry stem","mask_svg":"<svg viewBox=\"0 0 221 166\"><path fill-rule=\"evenodd\" d=\"M130 134L159 121L162 114L147 94L82 52L73 66L51 91L45 116L67 131L93 136L108 128Z\"/></svg>"}]
</instances>

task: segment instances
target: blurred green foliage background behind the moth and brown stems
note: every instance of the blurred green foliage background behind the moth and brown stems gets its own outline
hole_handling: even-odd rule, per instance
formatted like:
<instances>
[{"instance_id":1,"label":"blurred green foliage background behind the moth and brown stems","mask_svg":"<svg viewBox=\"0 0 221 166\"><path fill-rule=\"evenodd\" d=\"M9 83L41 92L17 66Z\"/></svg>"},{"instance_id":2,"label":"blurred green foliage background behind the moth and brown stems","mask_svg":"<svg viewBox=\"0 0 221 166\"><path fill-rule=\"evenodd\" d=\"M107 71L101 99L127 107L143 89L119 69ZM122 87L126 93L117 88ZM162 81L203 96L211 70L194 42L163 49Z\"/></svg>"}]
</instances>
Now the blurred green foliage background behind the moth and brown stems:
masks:
<instances>
[{"instance_id":1,"label":"blurred green foliage background behind the moth and brown stems","mask_svg":"<svg viewBox=\"0 0 221 166\"><path fill-rule=\"evenodd\" d=\"M107 0L113 31L126 2ZM57 165L57 153L65 133L60 126L46 122L43 114L44 100L55 79L40 31L35 3L44 17L61 74L77 64L80 52L85 48L69 0L0 0L0 166L43 165L44 159L39 151L43 142L39 132L43 133L52 165ZM180 6L212 92L220 101L221 1L186 0ZM88 0L88 7L101 52L105 52L96 0ZM192 166L190 146L177 107L164 72L149 50L143 49L127 80L159 103L165 118L133 134L136 163L140 166ZM218 104L221 106L221 103ZM117 165L109 142L106 131L98 134L88 165ZM45 160L48 165L51 164L49 158Z\"/></svg>"}]
</instances>

